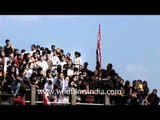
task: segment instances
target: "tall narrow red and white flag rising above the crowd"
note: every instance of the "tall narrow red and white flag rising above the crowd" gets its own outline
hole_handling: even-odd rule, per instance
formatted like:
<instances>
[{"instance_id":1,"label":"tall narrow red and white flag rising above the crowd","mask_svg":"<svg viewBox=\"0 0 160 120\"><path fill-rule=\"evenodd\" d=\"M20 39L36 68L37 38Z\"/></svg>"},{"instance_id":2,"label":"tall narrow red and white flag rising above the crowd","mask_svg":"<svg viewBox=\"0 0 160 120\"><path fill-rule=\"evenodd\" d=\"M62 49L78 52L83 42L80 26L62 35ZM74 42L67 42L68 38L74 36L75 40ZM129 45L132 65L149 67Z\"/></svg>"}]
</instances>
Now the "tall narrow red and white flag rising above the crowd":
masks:
<instances>
[{"instance_id":1,"label":"tall narrow red and white flag rising above the crowd","mask_svg":"<svg viewBox=\"0 0 160 120\"><path fill-rule=\"evenodd\" d=\"M97 49L96 49L96 67L102 68L102 47L101 47L101 29L100 25L98 28L98 39L97 39Z\"/></svg>"}]
</instances>

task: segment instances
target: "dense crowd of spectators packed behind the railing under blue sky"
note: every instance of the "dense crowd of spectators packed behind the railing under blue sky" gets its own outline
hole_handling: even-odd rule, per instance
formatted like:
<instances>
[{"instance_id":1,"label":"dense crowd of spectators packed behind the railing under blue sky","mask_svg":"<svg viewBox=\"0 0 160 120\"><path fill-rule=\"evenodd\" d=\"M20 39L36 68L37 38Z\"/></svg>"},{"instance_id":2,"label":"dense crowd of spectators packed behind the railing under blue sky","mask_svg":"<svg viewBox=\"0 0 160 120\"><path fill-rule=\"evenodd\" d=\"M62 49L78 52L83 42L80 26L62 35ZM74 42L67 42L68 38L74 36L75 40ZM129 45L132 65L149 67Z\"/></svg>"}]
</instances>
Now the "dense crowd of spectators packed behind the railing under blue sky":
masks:
<instances>
[{"instance_id":1,"label":"dense crowd of spectators packed behind the railing under blue sky","mask_svg":"<svg viewBox=\"0 0 160 120\"><path fill-rule=\"evenodd\" d=\"M150 91L146 80L123 80L108 63L106 69L96 66L88 69L81 53L75 51L74 59L71 53L64 53L61 48L51 45L44 48L31 45L31 50L15 49L10 40L0 47L0 91L1 94L13 94L15 98L30 100L31 86L37 91L44 90L48 99L54 102L69 102L67 90L120 90L116 95L110 95L110 103L114 105L158 105L157 89ZM52 91L49 94L48 91ZM61 94L58 94L61 91ZM54 93L54 94L53 94ZM76 101L80 103L104 103L105 96L101 94L77 94ZM42 101L42 94L36 94L36 100Z\"/></svg>"}]
</instances>

